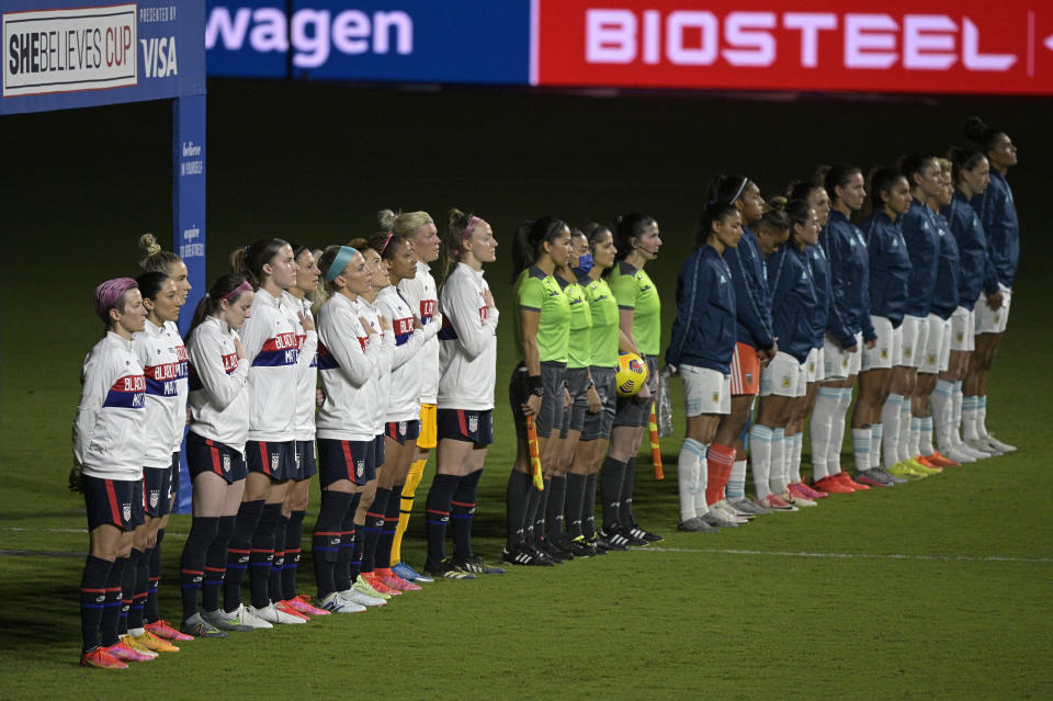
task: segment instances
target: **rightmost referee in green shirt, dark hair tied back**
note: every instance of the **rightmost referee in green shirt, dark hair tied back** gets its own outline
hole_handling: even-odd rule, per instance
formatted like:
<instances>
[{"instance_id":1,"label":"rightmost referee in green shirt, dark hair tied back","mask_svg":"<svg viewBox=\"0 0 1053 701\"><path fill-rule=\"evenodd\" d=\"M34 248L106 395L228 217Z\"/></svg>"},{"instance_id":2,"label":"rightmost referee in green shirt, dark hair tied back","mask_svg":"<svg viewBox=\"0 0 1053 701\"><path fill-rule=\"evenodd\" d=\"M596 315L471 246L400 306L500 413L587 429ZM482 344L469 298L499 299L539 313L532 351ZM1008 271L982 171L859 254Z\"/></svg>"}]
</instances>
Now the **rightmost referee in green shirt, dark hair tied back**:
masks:
<instances>
[{"instance_id":1,"label":"rightmost referee in green shirt, dark hair tied back","mask_svg":"<svg viewBox=\"0 0 1053 701\"><path fill-rule=\"evenodd\" d=\"M633 352L647 363L647 385L635 397L618 398L611 446L600 476L603 536L619 545L641 546L663 540L641 528L633 515L636 453L658 392L661 350L661 299L644 265L658 258L661 237L658 223L646 214L615 218L613 234L618 253L608 284L618 301L619 328L633 342Z\"/></svg>"}]
</instances>

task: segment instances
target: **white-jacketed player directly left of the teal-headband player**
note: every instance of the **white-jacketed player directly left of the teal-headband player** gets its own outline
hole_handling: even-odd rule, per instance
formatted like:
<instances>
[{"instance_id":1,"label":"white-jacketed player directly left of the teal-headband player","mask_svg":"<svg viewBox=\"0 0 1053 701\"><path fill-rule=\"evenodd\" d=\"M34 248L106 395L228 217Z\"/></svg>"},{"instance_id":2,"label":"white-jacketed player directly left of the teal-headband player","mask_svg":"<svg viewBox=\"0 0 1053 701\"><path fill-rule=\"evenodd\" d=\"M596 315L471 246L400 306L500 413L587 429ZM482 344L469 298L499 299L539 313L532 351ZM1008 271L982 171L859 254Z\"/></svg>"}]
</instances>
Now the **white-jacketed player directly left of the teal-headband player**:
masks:
<instances>
[{"instance_id":1,"label":"white-jacketed player directly left of the teal-headband player","mask_svg":"<svg viewBox=\"0 0 1053 701\"><path fill-rule=\"evenodd\" d=\"M318 291L318 270L315 255L306 246L290 244L296 260L296 284L282 292L282 308L296 329L298 359L296 361L296 412L293 431L296 440L295 474L291 477L282 516L274 530L274 562L271 565L271 599L275 608L291 615L320 615L328 611L310 604L308 597L296 590L296 570L299 568L301 542L304 538L304 516L310 494L310 478L318 473L315 450L315 409L318 396L317 333L308 335L301 318L310 318L312 305Z\"/></svg>"}]
</instances>

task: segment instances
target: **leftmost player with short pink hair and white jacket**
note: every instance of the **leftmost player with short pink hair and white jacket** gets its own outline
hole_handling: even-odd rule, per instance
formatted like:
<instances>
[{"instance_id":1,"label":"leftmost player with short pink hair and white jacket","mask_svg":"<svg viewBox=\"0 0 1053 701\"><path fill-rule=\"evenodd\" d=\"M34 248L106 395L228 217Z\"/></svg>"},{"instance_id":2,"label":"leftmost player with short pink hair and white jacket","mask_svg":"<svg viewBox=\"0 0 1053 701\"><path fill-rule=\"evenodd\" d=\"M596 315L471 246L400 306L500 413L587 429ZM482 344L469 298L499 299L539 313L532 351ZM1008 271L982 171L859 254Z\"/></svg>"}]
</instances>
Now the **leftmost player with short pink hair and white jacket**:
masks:
<instances>
[{"instance_id":1,"label":"leftmost player with short pink hair and white jacket","mask_svg":"<svg viewBox=\"0 0 1053 701\"><path fill-rule=\"evenodd\" d=\"M146 377L132 349L147 310L131 278L107 280L94 292L95 314L106 335L92 347L81 371L80 404L73 419L70 489L84 495L89 551L80 580L80 625L86 667L124 669L151 659L117 636L121 579L132 534L143 523L140 430Z\"/></svg>"}]
</instances>

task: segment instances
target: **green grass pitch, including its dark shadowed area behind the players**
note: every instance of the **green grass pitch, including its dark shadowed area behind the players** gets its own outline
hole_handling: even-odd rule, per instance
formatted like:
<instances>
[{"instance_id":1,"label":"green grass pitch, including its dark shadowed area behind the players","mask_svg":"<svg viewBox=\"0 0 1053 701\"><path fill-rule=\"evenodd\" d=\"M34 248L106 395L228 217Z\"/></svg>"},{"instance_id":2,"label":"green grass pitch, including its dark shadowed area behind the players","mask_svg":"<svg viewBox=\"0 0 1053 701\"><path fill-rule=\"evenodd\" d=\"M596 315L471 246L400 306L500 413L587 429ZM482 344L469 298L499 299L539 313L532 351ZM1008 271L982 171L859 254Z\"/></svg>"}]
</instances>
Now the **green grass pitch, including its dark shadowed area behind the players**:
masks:
<instances>
[{"instance_id":1,"label":"green grass pitch, including its dark shadowed area behind the players","mask_svg":"<svg viewBox=\"0 0 1053 701\"><path fill-rule=\"evenodd\" d=\"M637 516L667 536L657 546L441 581L380 611L194 641L121 674L83 670L76 586L88 539L82 499L65 484L77 377L99 335L90 291L134 274L139 233L170 229L170 117L165 105L5 117L0 698L1053 698L1044 506L1053 499L1053 382L1041 368L1053 337L1038 264L1049 218L1043 166L1053 158L1043 135L1049 101L210 88L210 278L226 251L258 236L322 245L371 233L382 206L439 215L455 205L490 221L503 245L489 273L501 307L518 219L553 212L578 223L644 210L666 241L652 272L669 301L667 320L713 173L757 173L771 190L820 161L942 150L962 118L980 112L1021 147L1010 181L1024 257L988 419L1020 451L695 535L675 532L675 436L663 443L665 482L638 461ZM499 338L503 378L514 362L509 324ZM476 550L492 559L512 459L502 396L499 387L476 517ZM431 474L429 466L420 494ZM165 541L161 611L170 620L189 525L174 517ZM404 546L415 565L421 525L417 518ZM307 554L301 572L312 592Z\"/></svg>"}]
</instances>

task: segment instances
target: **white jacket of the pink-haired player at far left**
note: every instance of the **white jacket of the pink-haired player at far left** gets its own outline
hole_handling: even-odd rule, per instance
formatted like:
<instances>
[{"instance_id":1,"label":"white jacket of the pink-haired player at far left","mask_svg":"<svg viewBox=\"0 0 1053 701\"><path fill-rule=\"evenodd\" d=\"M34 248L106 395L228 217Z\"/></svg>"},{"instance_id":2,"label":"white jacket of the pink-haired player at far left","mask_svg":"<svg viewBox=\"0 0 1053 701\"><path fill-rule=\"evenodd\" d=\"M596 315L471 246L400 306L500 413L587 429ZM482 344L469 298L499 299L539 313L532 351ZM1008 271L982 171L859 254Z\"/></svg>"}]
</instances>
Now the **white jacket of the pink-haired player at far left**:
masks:
<instances>
[{"instance_id":1,"label":"white jacket of the pink-haired player at far left","mask_svg":"<svg viewBox=\"0 0 1053 701\"><path fill-rule=\"evenodd\" d=\"M73 463L89 477L141 479L146 455L146 376L132 341L106 333L84 359L80 382L80 405L73 419Z\"/></svg>"}]
</instances>

